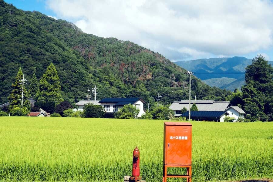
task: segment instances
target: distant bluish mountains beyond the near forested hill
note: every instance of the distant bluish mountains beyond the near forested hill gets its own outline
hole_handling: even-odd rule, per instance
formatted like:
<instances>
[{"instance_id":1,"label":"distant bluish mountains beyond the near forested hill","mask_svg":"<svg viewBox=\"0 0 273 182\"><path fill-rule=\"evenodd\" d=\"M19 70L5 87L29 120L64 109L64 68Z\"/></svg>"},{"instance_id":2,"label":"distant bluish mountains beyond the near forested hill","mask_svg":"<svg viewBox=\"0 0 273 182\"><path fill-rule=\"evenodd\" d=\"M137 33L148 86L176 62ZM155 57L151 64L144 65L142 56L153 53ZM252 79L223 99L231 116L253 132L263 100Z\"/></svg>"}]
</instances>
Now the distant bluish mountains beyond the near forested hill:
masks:
<instances>
[{"instance_id":1,"label":"distant bluish mountains beyond the near forested hill","mask_svg":"<svg viewBox=\"0 0 273 182\"><path fill-rule=\"evenodd\" d=\"M233 91L244 85L245 68L252 59L245 57L210 58L191 61L177 61L178 66L195 72L195 76L204 80L209 86ZM269 61L273 65L272 61ZM233 82L230 82L233 79Z\"/></svg>"}]
</instances>

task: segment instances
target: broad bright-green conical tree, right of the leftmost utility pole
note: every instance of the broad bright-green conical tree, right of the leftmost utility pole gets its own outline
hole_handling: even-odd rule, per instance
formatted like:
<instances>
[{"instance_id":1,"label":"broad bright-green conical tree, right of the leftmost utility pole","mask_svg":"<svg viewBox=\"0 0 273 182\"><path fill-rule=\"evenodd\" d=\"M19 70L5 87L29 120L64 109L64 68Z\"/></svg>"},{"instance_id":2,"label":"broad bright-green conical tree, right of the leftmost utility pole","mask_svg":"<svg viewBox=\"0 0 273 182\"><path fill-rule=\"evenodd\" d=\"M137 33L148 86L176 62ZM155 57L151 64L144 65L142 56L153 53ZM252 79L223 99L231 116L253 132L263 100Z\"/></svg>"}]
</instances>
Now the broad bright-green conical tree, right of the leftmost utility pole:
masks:
<instances>
[{"instance_id":1,"label":"broad bright-green conical tree, right of the leftmost utility pole","mask_svg":"<svg viewBox=\"0 0 273 182\"><path fill-rule=\"evenodd\" d=\"M53 63L47 67L40 80L40 94L37 105L43 110L53 113L57 104L63 101L60 79Z\"/></svg>"}]
</instances>

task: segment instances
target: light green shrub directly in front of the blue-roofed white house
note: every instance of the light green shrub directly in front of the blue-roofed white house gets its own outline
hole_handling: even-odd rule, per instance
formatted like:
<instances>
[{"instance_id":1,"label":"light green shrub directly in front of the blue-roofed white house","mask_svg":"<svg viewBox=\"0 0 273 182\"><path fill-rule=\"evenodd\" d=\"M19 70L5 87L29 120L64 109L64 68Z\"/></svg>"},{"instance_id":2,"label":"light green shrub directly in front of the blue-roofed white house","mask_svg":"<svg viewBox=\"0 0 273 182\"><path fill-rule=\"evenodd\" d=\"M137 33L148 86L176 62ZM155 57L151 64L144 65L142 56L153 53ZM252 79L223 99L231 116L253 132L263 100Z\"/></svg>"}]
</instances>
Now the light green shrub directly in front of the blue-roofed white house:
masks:
<instances>
[{"instance_id":1,"label":"light green shrub directly in front of the blue-roofed white house","mask_svg":"<svg viewBox=\"0 0 273 182\"><path fill-rule=\"evenodd\" d=\"M115 118L118 119L135 119L139 110L132 104L126 104L118 112L115 113Z\"/></svg>"}]
</instances>

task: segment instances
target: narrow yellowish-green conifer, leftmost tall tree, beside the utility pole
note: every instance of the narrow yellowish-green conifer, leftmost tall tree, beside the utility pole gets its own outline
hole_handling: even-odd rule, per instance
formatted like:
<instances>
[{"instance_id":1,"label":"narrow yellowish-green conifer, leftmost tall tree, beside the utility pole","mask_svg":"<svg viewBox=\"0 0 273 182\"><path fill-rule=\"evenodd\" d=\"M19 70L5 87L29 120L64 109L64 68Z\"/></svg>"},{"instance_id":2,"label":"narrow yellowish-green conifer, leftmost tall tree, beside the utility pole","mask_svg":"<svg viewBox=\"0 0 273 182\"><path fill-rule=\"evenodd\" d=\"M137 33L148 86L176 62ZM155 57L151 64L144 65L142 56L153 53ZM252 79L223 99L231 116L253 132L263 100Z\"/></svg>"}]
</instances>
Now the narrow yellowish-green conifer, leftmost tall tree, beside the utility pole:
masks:
<instances>
[{"instance_id":1,"label":"narrow yellowish-green conifer, leftmost tall tree, beside the utility pole","mask_svg":"<svg viewBox=\"0 0 273 182\"><path fill-rule=\"evenodd\" d=\"M23 105L21 105L22 99L22 84L20 84L23 79L23 72L21 67L19 68L17 75L15 77L15 82L12 84L12 93L9 95L9 110L11 113L15 113L14 116L23 116L29 112L29 101L27 100L26 89L24 87L24 95L23 95ZM18 112L13 112L13 110L17 110ZM13 115L13 114L12 114Z\"/></svg>"}]
</instances>

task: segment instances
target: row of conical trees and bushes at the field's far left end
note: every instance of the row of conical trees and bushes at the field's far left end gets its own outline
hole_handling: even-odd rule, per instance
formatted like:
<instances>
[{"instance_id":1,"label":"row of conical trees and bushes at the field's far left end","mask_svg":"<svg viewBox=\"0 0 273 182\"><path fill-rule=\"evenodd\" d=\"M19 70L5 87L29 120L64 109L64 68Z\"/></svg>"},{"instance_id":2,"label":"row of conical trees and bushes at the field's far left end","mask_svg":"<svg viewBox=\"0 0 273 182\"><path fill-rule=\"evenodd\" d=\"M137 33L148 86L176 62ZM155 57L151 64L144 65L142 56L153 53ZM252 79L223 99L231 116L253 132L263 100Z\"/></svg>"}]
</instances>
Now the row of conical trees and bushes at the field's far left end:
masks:
<instances>
[{"instance_id":1,"label":"row of conical trees and bushes at the field's far left end","mask_svg":"<svg viewBox=\"0 0 273 182\"><path fill-rule=\"evenodd\" d=\"M29 114L30 110L38 111L39 108L42 108L49 113L55 111L62 112L60 109L62 108L62 105L66 103L72 108L72 105L69 102L63 102L64 99L61 94L59 76L52 63L47 67L39 81L36 78L35 73L33 73L32 78L29 80L29 85L25 84L24 89L22 89L22 79L23 72L20 67L15 77L15 82L12 84L12 92L8 97L10 104L7 108L2 109L2 115L7 115L7 112L9 112L11 116L26 116ZM22 90L24 93L23 98ZM29 97L37 100L35 106L30 105L28 101ZM21 103L21 99L23 99L23 104ZM60 105L60 103L62 104Z\"/></svg>"}]
</instances>

